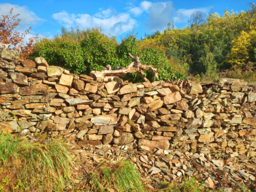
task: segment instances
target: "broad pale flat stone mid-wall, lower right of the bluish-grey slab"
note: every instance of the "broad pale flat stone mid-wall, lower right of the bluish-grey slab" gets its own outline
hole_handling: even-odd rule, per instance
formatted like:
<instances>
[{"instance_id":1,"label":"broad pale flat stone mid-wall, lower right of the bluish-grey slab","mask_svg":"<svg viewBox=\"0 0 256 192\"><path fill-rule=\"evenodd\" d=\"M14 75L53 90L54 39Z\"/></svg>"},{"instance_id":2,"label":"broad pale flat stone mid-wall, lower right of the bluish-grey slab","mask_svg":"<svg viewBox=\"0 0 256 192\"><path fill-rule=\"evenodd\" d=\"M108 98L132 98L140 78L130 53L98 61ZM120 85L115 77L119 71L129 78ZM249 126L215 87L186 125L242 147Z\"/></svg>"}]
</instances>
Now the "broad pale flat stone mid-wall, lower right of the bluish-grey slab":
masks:
<instances>
[{"instance_id":1,"label":"broad pale flat stone mid-wall, lower right of the bluish-grey slab","mask_svg":"<svg viewBox=\"0 0 256 192\"><path fill-rule=\"evenodd\" d=\"M112 125L117 123L116 114L98 115L91 118L91 122L96 125Z\"/></svg>"}]
</instances>

